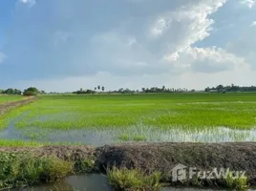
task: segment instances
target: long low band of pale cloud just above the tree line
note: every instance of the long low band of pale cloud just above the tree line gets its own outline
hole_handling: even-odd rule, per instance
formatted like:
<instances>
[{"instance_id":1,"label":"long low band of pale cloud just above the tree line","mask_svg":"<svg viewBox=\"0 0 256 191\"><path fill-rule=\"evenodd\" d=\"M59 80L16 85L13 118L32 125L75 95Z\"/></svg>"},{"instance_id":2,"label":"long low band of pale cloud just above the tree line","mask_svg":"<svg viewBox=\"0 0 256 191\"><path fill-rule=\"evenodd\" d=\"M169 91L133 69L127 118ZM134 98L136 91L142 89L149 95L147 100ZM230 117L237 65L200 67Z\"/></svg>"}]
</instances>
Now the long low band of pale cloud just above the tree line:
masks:
<instances>
[{"instance_id":1,"label":"long low band of pale cloud just above the tree line","mask_svg":"<svg viewBox=\"0 0 256 191\"><path fill-rule=\"evenodd\" d=\"M75 91L80 88L94 89L97 85L103 85L106 91L114 89L117 90L119 88L140 90L142 87L161 87L162 85L168 88L203 90L203 88L207 86L212 87L218 84L230 85L234 83L237 85L250 86L252 81L255 80L256 73L249 69L225 71L217 74L186 72L179 75L147 74L134 77L117 76L105 72L99 72L90 76L19 81L15 83L15 86L20 87L20 89L35 86L48 92ZM65 84L65 86L63 86L63 84Z\"/></svg>"}]
</instances>

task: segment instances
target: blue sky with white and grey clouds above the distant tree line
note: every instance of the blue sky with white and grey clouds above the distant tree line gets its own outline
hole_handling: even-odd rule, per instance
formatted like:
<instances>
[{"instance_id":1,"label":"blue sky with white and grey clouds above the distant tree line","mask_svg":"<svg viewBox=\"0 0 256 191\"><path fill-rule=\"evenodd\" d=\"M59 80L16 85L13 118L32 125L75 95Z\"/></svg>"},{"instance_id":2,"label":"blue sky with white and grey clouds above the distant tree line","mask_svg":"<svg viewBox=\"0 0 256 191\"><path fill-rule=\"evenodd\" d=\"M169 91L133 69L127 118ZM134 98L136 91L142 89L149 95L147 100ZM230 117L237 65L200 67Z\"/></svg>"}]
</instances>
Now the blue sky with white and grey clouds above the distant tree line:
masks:
<instances>
[{"instance_id":1,"label":"blue sky with white and grey clouds above the distant tree line","mask_svg":"<svg viewBox=\"0 0 256 191\"><path fill-rule=\"evenodd\" d=\"M256 84L256 0L0 0L0 89Z\"/></svg>"}]
</instances>

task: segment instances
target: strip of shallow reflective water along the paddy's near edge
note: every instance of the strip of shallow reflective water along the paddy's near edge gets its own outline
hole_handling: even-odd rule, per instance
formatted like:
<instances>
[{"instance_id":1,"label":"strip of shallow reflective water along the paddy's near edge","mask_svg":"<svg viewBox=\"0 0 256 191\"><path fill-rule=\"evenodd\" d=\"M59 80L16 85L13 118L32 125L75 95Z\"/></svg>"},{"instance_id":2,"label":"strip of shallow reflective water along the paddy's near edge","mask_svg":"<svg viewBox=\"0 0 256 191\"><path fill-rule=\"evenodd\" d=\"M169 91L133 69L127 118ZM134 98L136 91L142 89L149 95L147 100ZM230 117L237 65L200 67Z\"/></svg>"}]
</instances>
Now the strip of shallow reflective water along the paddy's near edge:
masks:
<instances>
[{"instance_id":1,"label":"strip of shallow reflective water along the paddy's near edge","mask_svg":"<svg viewBox=\"0 0 256 191\"><path fill-rule=\"evenodd\" d=\"M240 130L225 127L183 129L183 128L156 128L150 126L131 126L123 128L85 128L58 130L49 128L16 128L15 122L22 116L13 119L9 127L0 131L0 138L36 140L39 142L69 142L82 143L94 146L114 144L129 141L173 141L173 142L232 142L255 141L256 129Z\"/></svg>"}]
</instances>

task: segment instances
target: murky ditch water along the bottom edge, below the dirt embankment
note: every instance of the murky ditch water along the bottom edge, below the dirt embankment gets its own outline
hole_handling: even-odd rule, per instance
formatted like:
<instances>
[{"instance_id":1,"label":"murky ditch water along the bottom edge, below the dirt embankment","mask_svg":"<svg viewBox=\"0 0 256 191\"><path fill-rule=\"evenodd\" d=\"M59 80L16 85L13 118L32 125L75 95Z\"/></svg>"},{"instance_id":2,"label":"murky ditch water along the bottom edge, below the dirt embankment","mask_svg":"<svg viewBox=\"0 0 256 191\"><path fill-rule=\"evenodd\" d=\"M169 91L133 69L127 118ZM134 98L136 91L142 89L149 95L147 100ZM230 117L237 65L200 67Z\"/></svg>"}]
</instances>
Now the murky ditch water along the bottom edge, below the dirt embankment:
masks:
<instances>
[{"instance_id":1,"label":"murky ditch water along the bottom edge, below the dirt embankment","mask_svg":"<svg viewBox=\"0 0 256 191\"><path fill-rule=\"evenodd\" d=\"M11 191L115 191L108 184L106 176L99 174L71 176L54 184L32 186L30 188L12 189ZM225 191L225 189L200 188L161 188L160 191ZM250 190L255 191L255 190Z\"/></svg>"}]
</instances>

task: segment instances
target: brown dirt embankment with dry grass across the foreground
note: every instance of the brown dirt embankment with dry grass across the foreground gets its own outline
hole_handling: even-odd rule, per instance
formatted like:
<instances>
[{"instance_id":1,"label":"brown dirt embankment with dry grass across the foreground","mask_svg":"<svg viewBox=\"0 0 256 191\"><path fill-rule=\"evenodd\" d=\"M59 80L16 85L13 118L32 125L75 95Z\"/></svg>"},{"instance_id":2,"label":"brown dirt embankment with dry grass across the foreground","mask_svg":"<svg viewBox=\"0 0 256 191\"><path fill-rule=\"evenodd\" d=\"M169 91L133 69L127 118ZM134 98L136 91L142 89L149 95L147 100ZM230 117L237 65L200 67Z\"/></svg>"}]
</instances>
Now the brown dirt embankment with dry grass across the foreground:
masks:
<instances>
[{"instance_id":1,"label":"brown dirt embankment with dry grass across the foreground","mask_svg":"<svg viewBox=\"0 0 256 191\"><path fill-rule=\"evenodd\" d=\"M94 157L96 168L122 166L138 168L151 173L159 171L170 175L181 163L201 170L229 168L245 171L251 184L256 184L256 143L134 143L116 146L42 146L37 148L0 147L0 152L30 151L39 156L54 156L75 160ZM169 177L170 178L170 177Z\"/></svg>"}]
</instances>

